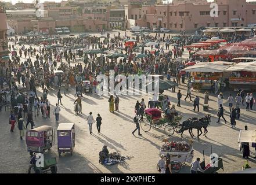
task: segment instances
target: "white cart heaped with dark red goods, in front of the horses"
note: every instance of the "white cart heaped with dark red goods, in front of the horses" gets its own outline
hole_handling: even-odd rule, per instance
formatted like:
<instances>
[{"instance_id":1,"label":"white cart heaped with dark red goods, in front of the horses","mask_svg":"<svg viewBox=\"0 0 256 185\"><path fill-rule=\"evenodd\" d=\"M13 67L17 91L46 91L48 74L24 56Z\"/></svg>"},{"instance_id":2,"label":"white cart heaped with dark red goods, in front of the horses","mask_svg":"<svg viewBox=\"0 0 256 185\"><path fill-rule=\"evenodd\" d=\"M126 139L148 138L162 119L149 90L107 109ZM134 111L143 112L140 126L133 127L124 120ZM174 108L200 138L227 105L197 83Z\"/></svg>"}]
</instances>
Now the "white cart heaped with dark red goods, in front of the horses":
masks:
<instances>
[{"instance_id":1,"label":"white cart heaped with dark red goods, in front of the horses","mask_svg":"<svg viewBox=\"0 0 256 185\"><path fill-rule=\"evenodd\" d=\"M194 150L192 143L182 142L165 142L160 149L159 156L170 156L172 161L192 162Z\"/></svg>"}]
</instances>

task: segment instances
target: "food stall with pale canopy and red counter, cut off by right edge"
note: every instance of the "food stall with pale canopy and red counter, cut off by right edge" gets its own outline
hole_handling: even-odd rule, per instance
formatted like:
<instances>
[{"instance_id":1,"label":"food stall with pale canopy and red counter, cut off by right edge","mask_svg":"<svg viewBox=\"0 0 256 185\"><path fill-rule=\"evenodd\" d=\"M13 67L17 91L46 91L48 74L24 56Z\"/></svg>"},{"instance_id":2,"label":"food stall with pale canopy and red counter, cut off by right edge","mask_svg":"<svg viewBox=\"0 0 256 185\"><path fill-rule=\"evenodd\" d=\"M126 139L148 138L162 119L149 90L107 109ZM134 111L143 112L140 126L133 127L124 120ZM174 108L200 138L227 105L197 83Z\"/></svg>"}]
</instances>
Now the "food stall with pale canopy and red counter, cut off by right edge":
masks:
<instances>
[{"instance_id":1,"label":"food stall with pale canopy and red counter, cut off by right edge","mask_svg":"<svg viewBox=\"0 0 256 185\"><path fill-rule=\"evenodd\" d=\"M234 91L256 90L256 61L254 62L240 62L225 72L230 72L229 87Z\"/></svg>"}]
</instances>

